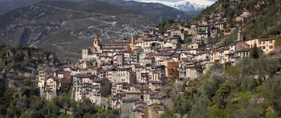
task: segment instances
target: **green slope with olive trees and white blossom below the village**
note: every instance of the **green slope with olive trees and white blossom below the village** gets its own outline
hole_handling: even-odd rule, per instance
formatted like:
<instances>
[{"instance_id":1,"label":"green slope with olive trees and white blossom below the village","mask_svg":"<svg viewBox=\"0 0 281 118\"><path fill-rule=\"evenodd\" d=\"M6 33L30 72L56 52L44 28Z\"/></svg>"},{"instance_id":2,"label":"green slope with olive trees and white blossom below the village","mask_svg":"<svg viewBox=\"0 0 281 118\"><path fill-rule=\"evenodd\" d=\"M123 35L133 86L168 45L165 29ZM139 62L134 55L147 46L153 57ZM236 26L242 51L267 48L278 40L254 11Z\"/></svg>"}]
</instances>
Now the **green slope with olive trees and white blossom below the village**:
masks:
<instances>
[{"instance_id":1,"label":"green slope with olive trees and white blossom below the village","mask_svg":"<svg viewBox=\"0 0 281 118\"><path fill-rule=\"evenodd\" d=\"M269 55L240 58L235 67L214 64L208 74L188 84L172 81L175 90L185 91L160 117L173 118L175 113L183 118L280 117L281 78L275 73L279 64Z\"/></svg>"}]
</instances>

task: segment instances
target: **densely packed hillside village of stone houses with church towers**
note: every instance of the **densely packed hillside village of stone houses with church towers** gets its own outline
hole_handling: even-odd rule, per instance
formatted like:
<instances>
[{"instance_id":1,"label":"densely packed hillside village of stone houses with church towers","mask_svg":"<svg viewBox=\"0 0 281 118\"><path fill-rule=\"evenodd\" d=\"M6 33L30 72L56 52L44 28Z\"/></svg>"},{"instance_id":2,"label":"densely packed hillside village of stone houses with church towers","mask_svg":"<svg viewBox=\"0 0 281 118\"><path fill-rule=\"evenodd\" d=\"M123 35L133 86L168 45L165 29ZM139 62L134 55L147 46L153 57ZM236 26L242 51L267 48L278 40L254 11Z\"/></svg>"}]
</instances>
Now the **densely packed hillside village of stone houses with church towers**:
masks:
<instances>
[{"instance_id":1,"label":"densely packed hillside village of stone houses with church towers","mask_svg":"<svg viewBox=\"0 0 281 118\"><path fill-rule=\"evenodd\" d=\"M261 1L256 5L257 10ZM257 10L245 10L234 22L246 22ZM222 19L220 16L215 16ZM96 36L93 46L82 49L82 57L73 64L46 68L39 71L40 96L51 100L59 91L73 83L71 98L75 101L89 99L102 108L120 109L121 117L154 117L172 107L172 98L182 93L166 94L163 89L172 87L170 80L189 81L206 74L214 63L231 64L239 58L249 57L254 43L260 55L274 49L272 38L243 38L230 45L206 44L208 37L216 37L230 28L226 19L216 24L203 20L190 24L190 28L169 27L164 35L158 28L144 30L143 34L121 39L111 44L100 44ZM185 44L188 35L196 42ZM69 61L69 60L62 60ZM157 104L157 107L155 106Z\"/></svg>"}]
</instances>

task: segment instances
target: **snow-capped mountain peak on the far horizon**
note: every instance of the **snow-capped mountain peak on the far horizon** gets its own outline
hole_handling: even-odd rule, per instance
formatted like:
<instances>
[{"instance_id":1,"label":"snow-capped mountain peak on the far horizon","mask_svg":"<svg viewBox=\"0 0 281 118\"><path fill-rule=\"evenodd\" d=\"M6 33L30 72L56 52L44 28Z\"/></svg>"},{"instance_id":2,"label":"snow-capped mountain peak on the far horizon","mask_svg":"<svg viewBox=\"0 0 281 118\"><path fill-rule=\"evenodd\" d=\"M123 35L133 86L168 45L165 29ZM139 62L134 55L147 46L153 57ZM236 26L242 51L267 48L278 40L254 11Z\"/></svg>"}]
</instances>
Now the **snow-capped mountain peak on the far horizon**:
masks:
<instances>
[{"instance_id":1,"label":"snow-capped mountain peak on the far horizon","mask_svg":"<svg viewBox=\"0 0 281 118\"><path fill-rule=\"evenodd\" d=\"M166 6L174 7L179 9L180 11L190 12L190 11L202 11L206 7L214 4L214 2L207 1L207 0L185 0L185 1L178 1L178 2L167 2L167 1L155 1L155 0L140 0L138 2L145 2L145 3L161 3Z\"/></svg>"}]
</instances>

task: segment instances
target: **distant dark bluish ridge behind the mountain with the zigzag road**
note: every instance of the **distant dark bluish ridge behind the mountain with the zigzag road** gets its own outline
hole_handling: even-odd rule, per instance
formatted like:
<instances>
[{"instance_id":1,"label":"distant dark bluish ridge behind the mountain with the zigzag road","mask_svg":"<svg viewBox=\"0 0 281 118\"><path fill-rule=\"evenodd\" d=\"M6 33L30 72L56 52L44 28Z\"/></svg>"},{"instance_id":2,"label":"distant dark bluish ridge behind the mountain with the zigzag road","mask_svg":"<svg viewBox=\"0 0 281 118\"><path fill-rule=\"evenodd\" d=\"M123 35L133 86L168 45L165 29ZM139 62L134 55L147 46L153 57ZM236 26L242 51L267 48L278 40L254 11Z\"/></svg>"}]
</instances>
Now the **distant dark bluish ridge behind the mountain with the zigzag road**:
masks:
<instances>
[{"instance_id":1,"label":"distant dark bluish ridge behind the mountain with the zigzag road","mask_svg":"<svg viewBox=\"0 0 281 118\"><path fill-rule=\"evenodd\" d=\"M0 1L0 14L5 14L13 9L21 8L23 6L28 6L40 2L41 0L3 0ZM47 0L43 0L47 1ZM191 19L198 12L186 13L175 9L173 7L165 6L160 3L141 3L136 1L124 1L124 0L52 0L52 1L70 1L78 2L83 4L93 4L93 3L104 3L111 4L123 9L135 10L142 12L144 14L150 15L158 20L167 20L169 18L175 19Z\"/></svg>"}]
</instances>

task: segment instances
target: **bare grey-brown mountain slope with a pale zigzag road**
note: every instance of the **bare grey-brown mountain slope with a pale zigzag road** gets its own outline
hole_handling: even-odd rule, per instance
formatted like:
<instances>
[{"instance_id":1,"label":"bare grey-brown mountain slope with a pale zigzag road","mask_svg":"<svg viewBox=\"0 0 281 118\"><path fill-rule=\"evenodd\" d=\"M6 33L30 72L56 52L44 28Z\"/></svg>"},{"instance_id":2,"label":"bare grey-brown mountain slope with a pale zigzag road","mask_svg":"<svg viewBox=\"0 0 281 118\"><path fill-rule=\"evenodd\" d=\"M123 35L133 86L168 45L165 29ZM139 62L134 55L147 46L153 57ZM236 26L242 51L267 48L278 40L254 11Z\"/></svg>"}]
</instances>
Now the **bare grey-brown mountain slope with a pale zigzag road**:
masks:
<instances>
[{"instance_id":1,"label":"bare grey-brown mountain slope with a pale zigzag road","mask_svg":"<svg viewBox=\"0 0 281 118\"><path fill-rule=\"evenodd\" d=\"M41 1L1 15L0 41L12 47L40 47L56 52L59 58L76 60L95 36L101 43L109 43L158 22L146 14L104 3Z\"/></svg>"}]
</instances>

